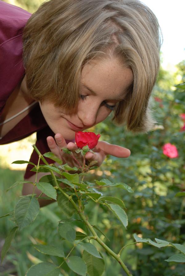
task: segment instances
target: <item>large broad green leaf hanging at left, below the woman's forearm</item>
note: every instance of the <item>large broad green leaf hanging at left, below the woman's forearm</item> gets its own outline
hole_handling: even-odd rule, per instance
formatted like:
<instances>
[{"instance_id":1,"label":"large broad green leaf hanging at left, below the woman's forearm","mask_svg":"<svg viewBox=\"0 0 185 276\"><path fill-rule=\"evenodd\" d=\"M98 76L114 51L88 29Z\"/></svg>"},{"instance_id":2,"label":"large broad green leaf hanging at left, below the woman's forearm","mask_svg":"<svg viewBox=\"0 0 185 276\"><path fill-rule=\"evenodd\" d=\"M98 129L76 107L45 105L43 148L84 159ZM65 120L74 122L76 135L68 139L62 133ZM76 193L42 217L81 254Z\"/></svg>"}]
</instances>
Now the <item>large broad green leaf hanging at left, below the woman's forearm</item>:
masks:
<instances>
[{"instance_id":1,"label":"large broad green leaf hanging at left, below the woman's forearm","mask_svg":"<svg viewBox=\"0 0 185 276\"><path fill-rule=\"evenodd\" d=\"M35 197L22 197L14 209L14 216L20 230L35 220L39 213L39 202Z\"/></svg>"}]
</instances>

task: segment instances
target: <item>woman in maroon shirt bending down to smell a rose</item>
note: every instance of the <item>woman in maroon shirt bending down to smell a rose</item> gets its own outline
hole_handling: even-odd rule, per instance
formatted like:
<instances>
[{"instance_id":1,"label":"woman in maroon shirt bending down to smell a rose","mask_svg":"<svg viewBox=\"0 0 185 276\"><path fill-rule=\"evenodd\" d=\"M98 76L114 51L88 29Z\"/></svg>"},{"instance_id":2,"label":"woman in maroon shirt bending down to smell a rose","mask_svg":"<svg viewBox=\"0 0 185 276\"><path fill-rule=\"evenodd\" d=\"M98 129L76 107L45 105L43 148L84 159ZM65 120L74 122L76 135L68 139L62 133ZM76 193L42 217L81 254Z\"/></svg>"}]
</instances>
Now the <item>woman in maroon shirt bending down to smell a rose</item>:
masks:
<instances>
[{"instance_id":1,"label":"woman in maroon shirt bending down to smell a rose","mask_svg":"<svg viewBox=\"0 0 185 276\"><path fill-rule=\"evenodd\" d=\"M138 0L51 0L31 17L4 2L0 10L1 144L37 131L39 150L63 158L60 148L76 149L75 131L111 112L130 131L152 128L160 39L148 7ZM100 165L107 154L130 151L100 141L86 159ZM30 161L37 158L33 152ZM29 170L25 178L34 180Z\"/></svg>"}]
</instances>

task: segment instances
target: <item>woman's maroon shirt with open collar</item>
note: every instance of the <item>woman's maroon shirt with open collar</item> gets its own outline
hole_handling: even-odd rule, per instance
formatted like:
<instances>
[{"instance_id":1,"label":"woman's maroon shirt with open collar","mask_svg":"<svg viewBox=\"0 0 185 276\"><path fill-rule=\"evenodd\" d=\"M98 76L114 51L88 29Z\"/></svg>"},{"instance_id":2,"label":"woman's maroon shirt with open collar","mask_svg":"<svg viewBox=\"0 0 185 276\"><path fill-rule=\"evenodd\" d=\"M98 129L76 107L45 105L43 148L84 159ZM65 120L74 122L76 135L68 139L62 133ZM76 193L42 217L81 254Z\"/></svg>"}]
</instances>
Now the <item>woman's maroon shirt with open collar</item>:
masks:
<instances>
[{"instance_id":1,"label":"woman's maroon shirt with open collar","mask_svg":"<svg viewBox=\"0 0 185 276\"><path fill-rule=\"evenodd\" d=\"M30 16L31 14L26 10L0 0L0 116L7 99L25 75L22 60L22 34ZM21 140L34 132L37 132L36 146L39 151L42 154L50 151L46 138L55 134L47 125L39 104L35 104L31 112L0 140L0 145ZM38 155L35 151L30 161L34 164L38 163ZM40 164L43 164L42 161ZM28 164L25 179L35 174L30 172L32 167Z\"/></svg>"}]
</instances>

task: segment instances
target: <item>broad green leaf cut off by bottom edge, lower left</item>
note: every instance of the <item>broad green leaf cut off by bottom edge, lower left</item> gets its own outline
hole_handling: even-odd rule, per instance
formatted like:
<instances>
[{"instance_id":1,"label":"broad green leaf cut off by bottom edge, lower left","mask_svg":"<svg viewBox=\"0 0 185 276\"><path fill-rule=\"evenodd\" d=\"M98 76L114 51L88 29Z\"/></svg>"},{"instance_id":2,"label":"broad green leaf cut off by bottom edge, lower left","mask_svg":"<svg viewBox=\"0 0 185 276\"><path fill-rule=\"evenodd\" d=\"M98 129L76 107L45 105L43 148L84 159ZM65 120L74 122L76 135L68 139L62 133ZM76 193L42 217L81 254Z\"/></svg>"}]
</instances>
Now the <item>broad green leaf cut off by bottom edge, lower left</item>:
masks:
<instances>
[{"instance_id":1,"label":"broad green leaf cut off by bottom edge, lower left","mask_svg":"<svg viewBox=\"0 0 185 276\"><path fill-rule=\"evenodd\" d=\"M51 262L40 262L31 266L26 276L59 276L60 269Z\"/></svg>"}]
</instances>

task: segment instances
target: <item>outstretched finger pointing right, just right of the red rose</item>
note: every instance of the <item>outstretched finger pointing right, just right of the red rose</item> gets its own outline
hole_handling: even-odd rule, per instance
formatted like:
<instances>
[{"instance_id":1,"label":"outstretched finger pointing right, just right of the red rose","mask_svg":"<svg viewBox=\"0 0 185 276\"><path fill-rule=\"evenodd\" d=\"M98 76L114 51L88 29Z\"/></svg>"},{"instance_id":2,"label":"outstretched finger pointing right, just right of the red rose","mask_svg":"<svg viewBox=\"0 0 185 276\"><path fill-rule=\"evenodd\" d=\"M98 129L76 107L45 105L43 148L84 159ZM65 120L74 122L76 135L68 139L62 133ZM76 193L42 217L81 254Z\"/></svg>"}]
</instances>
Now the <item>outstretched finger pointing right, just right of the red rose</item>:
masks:
<instances>
[{"instance_id":1,"label":"outstretched finger pointing right, just right of the red rose","mask_svg":"<svg viewBox=\"0 0 185 276\"><path fill-rule=\"evenodd\" d=\"M130 150L128 148L123 148L117 145L109 144L105 141L99 141L96 148L104 151L106 155L110 154L121 158L130 156Z\"/></svg>"}]
</instances>

